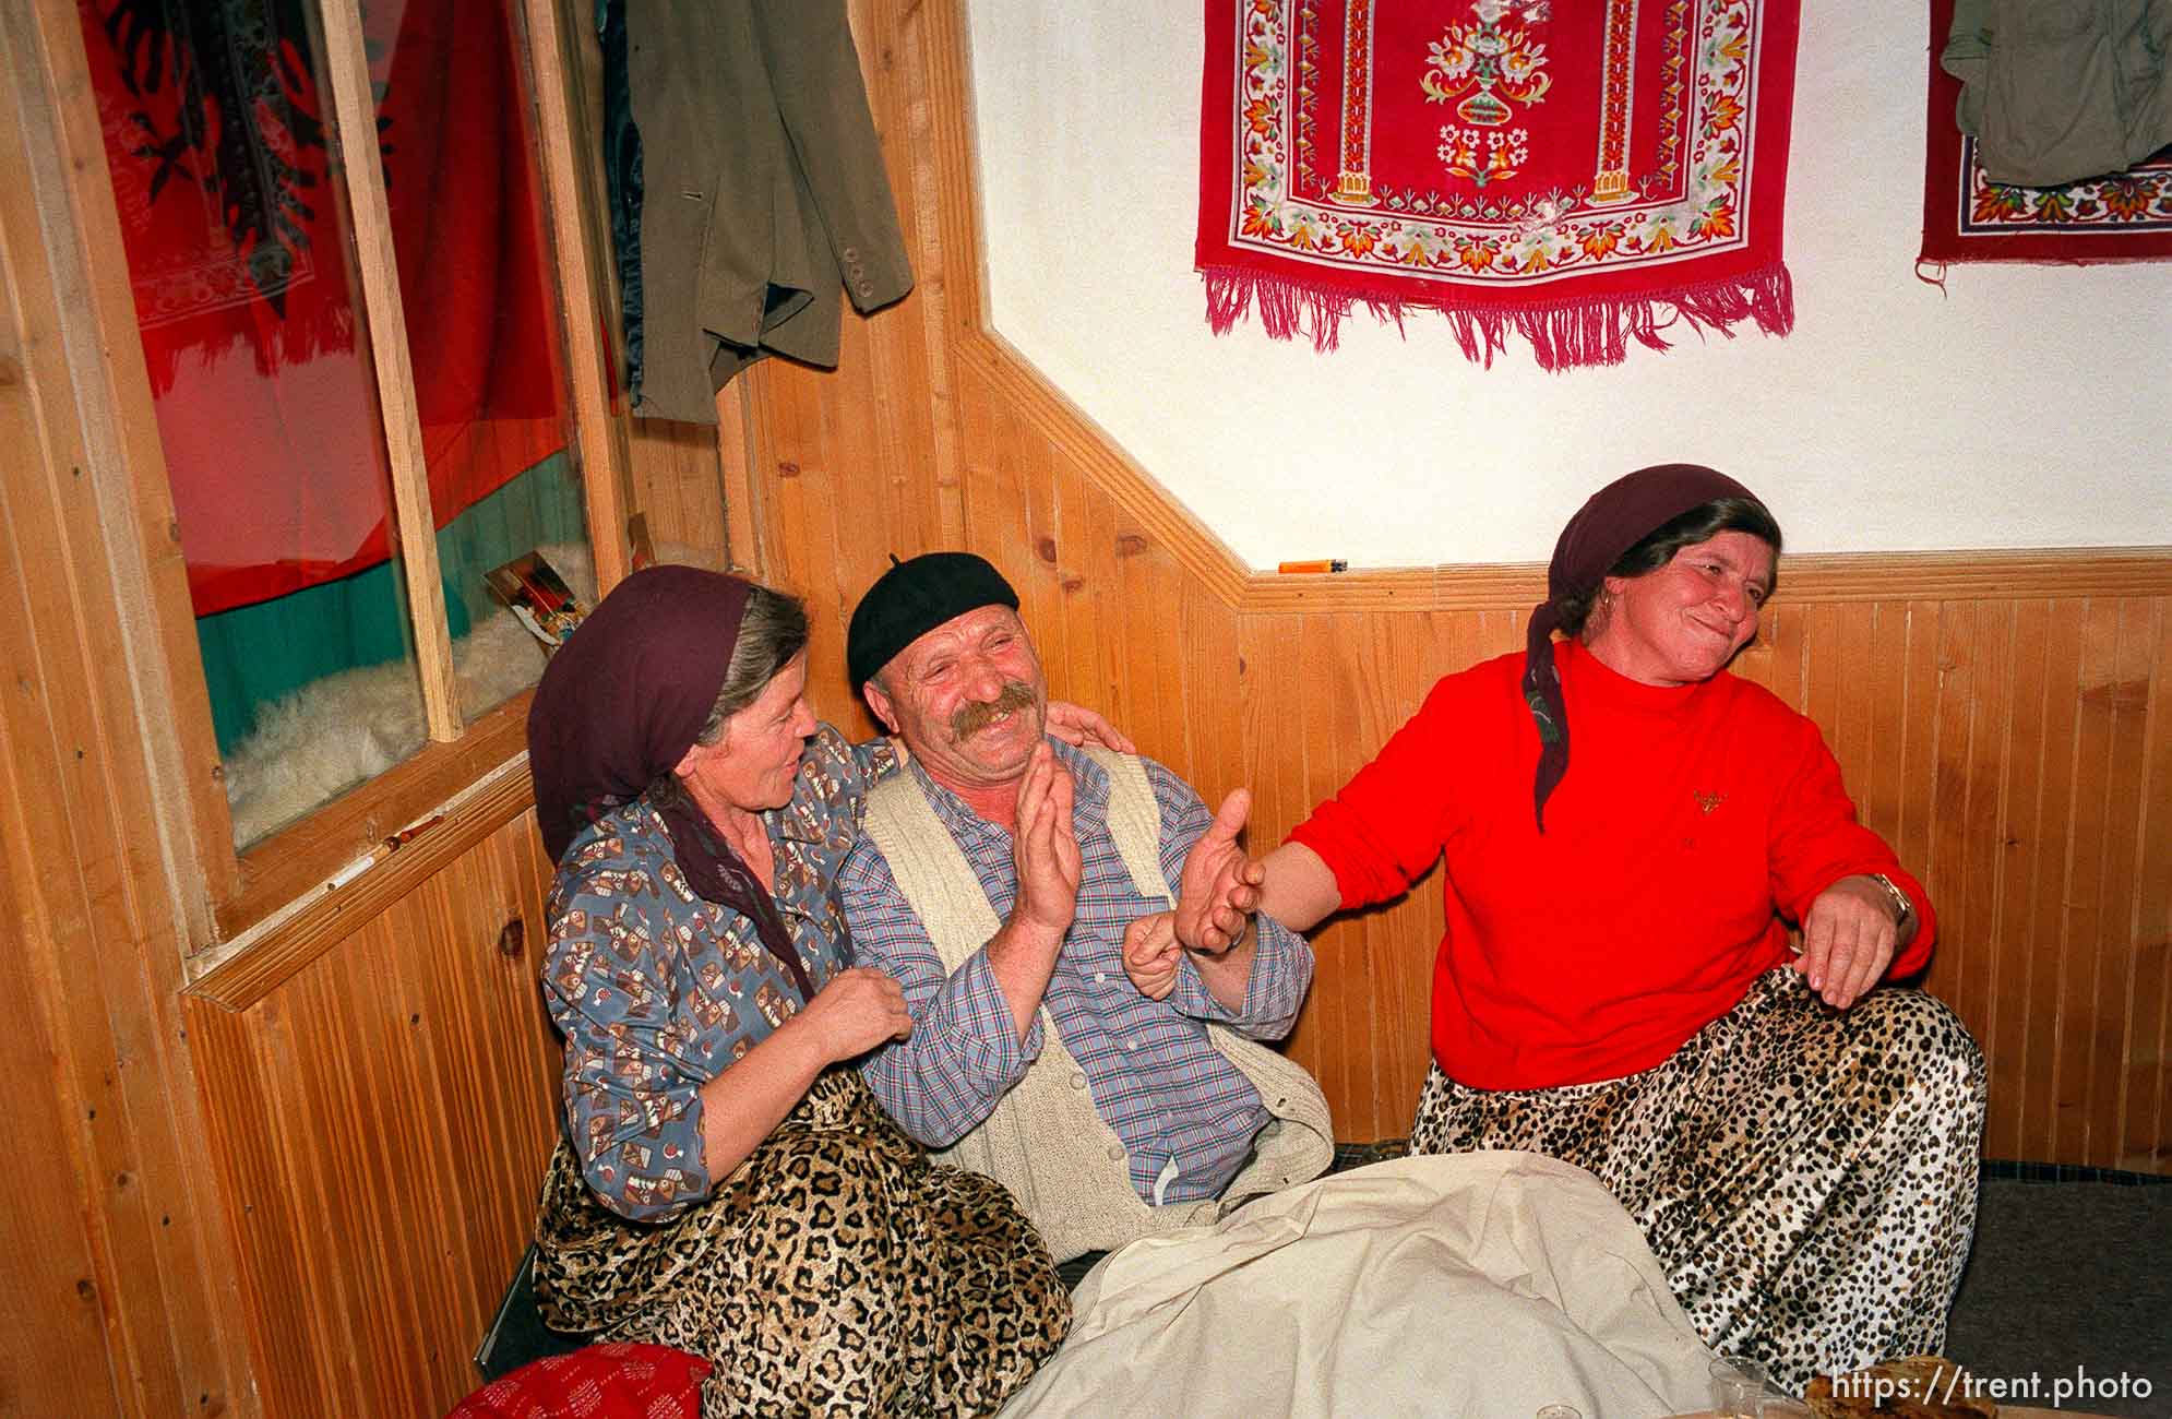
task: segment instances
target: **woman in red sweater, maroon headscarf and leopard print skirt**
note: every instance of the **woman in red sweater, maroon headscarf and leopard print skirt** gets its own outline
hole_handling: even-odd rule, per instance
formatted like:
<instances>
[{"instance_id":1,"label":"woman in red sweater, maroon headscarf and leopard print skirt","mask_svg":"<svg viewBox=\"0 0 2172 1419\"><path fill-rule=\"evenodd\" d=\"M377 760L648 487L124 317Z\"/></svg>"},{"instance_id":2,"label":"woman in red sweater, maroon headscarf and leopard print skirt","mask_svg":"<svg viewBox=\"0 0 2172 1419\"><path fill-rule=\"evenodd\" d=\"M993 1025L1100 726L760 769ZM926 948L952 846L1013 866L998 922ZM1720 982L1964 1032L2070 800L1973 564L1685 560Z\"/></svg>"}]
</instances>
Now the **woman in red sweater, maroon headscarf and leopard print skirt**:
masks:
<instances>
[{"instance_id":1,"label":"woman in red sweater, maroon headscarf and leopard print skirt","mask_svg":"<svg viewBox=\"0 0 2172 1419\"><path fill-rule=\"evenodd\" d=\"M1725 669L1779 543L1705 467L1601 489L1525 652L1440 680L1266 858L1260 911L1303 930L1444 858L1412 1150L1594 1171L1705 1341L1801 1391L1944 1343L1985 1082L1953 1010L1874 989L1929 960L1922 884L1818 728Z\"/></svg>"}]
</instances>

